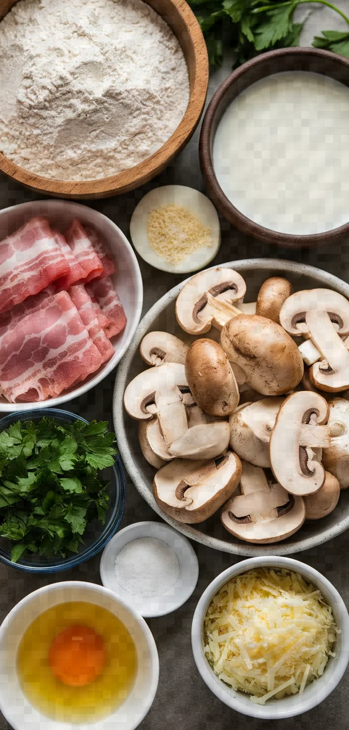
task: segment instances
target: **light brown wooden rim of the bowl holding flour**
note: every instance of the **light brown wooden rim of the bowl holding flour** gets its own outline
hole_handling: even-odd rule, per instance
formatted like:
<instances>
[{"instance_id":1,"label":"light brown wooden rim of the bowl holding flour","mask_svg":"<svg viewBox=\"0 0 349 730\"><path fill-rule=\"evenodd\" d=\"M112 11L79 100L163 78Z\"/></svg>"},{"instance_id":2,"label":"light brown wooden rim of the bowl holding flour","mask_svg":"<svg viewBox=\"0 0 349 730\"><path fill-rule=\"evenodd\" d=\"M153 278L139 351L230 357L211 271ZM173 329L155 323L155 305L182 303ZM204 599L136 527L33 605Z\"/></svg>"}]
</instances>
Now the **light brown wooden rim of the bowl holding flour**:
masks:
<instances>
[{"instance_id":1,"label":"light brown wooden rim of the bowl holding flour","mask_svg":"<svg viewBox=\"0 0 349 730\"><path fill-rule=\"evenodd\" d=\"M7 174L8 177L12 177L13 180L17 180L18 183L34 188L39 192L52 193L57 196L91 196L91 194L103 196L108 193L110 195L115 193L120 194L126 190L139 187L143 182L153 177L157 171L160 172L168 161L180 151L186 139L188 139L199 123L206 101L209 77L207 47L196 16L185 0L171 0L171 2L176 7L182 20L184 20L188 30L195 59L195 70L185 115L174 130L172 136L166 140L159 150L156 150L153 155L150 155L146 160L130 169L123 170L109 177L83 182L56 180L37 175L16 165L1 152L0 171ZM158 13L158 15L161 15L161 13ZM161 17L163 16L161 15ZM131 172L132 177L130 177Z\"/></svg>"}]
</instances>

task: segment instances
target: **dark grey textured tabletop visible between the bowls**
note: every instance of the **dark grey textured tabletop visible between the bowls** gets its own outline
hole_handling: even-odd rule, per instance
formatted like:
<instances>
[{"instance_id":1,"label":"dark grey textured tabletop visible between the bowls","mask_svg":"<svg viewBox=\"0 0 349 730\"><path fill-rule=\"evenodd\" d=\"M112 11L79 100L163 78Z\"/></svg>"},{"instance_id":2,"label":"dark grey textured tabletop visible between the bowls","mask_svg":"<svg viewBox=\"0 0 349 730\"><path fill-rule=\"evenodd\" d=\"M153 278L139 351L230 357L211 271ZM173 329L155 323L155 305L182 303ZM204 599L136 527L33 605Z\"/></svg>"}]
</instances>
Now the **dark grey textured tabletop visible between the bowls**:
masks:
<instances>
[{"instance_id":1,"label":"dark grey textured tabletop visible between the bowls","mask_svg":"<svg viewBox=\"0 0 349 730\"><path fill-rule=\"evenodd\" d=\"M342 9L348 9L348 0L337 2ZM314 33L322 28L343 29L335 22L335 16L326 9L325 16L321 15L323 9L316 7L316 12L311 16L308 23L311 27L304 31L304 45ZM331 24L330 24L331 23ZM229 73L229 63L211 78L210 94L214 88ZM104 201L89 201L91 207L104 212L122 228L126 236L129 236L129 220L134 206L142 198L143 194L157 185L177 183L180 185L191 185L204 191L202 177L199 172L199 161L197 153L199 134L196 132L190 144L179 158L152 183L142 190L129 193L127 196L112 198ZM0 175L0 209L18 203L37 199L34 193L23 190L20 185L7 180ZM220 251L213 261L219 264L222 261L231 261L237 258L250 258L252 256L291 258L294 261L302 261L312 266L319 266L337 276L349 281L349 249L348 241L341 245L319 247L315 250L285 250L277 247L269 247L258 241L253 241L235 231L229 223L221 220L222 245ZM139 261L142 269L142 276L145 286L144 312L169 288L180 281L180 277L172 274L164 274L152 269L147 264ZM85 418L91 420L110 420L111 424L111 403L112 389L115 374L96 388L96 391L87 393L80 401L66 403L66 410L80 412ZM141 499L134 486L128 480L128 494L126 510L123 515L121 527L139 520L158 520L157 515ZM233 727L238 730L346 730L348 728L348 702L349 702L349 675L342 680L340 687L323 702L320 707L307 712L298 718L284 721L258 721L253 718L246 718L238 715L229 707L221 704L204 685L201 677L196 671L196 666L191 653L191 619L196 603L204 589L211 580L236 562L234 556L219 553L202 545L193 544L199 558L200 574L199 583L191 599L173 614L162 618L154 618L148 621L151 631L156 639L160 657L160 681L158 694L147 718L140 728L142 730L230 730ZM342 594L347 607L349 607L349 533L342 534L332 542L327 542L321 548L309 550L306 553L298 553L297 559L302 560L331 580L338 591ZM29 576L15 569L7 568L0 564L0 621L4 619L7 612L23 596L39 588L41 585L60 580L87 580L100 583L99 558L96 556L88 563L78 569L59 573L56 576L41 578ZM0 730L7 728L4 718L0 717Z\"/></svg>"}]
</instances>

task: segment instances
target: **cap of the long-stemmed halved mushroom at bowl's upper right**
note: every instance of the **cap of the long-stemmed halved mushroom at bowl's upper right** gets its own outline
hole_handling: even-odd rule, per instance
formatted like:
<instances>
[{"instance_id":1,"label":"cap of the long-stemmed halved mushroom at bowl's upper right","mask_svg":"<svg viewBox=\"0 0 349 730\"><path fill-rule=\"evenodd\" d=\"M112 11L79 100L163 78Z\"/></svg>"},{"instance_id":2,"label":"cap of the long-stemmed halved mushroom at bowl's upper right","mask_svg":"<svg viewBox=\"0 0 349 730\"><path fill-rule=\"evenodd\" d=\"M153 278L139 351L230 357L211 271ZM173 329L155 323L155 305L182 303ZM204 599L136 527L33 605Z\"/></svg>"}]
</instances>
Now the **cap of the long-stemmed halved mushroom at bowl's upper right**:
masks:
<instances>
[{"instance_id":1,"label":"cap of the long-stemmed halved mushroom at bowl's upper right","mask_svg":"<svg viewBox=\"0 0 349 730\"><path fill-rule=\"evenodd\" d=\"M291 294L281 307L280 324L293 336L307 334L305 315L310 310L328 312L331 322L338 326L338 334L348 334L349 301L331 289L304 289Z\"/></svg>"}]
</instances>

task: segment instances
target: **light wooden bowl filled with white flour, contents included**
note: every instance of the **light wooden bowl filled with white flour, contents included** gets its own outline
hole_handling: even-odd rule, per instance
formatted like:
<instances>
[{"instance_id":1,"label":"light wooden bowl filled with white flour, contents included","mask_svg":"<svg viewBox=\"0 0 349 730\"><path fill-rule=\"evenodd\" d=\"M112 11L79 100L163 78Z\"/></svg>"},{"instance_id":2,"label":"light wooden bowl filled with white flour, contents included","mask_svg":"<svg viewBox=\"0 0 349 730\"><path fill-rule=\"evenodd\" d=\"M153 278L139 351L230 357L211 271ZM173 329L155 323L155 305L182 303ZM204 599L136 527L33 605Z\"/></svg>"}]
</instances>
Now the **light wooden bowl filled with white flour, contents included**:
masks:
<instances>
[{"instance_id":1,"label":"light wooden bowl filled with white flour, contents included","mask_svg":"<svg viewBox=\"0 0 349 730\"><path fill-rule=\"evenodd\" d=\"M208 58L183 0L77 0L68 12L64 0L45 9L7 0L0 18L0 85L11 90L0 118L0 169L12 179L62 198L126 193L191 138Z\"/></svg>"}]
</instances>

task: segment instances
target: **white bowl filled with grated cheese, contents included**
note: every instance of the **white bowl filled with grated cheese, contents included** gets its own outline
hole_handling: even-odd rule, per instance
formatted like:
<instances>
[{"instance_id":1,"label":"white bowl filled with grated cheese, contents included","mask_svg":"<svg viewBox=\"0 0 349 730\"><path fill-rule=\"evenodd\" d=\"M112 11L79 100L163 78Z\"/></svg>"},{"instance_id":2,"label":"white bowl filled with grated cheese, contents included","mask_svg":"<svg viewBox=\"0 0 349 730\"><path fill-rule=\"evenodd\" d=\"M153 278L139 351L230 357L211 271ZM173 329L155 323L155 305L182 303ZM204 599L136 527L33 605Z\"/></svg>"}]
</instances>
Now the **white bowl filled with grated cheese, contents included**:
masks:
<instances>
[{"instance_id":1,"label":"white bowl filled with grated cheese, contents included","mask_svg":"<svg viewBox=\"0 0 349 730\"><path fill-rule=\"evenodd\" d=\"M193 656L221 702L263 720L294 717L334 691L349 661L349 616L329 580L291 558L223 571L193 615Z\"/></svg>"}]
</instances>

